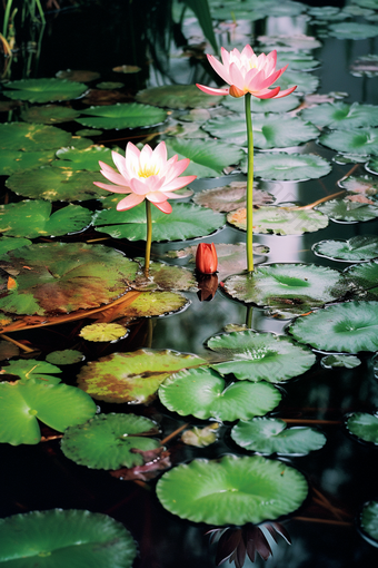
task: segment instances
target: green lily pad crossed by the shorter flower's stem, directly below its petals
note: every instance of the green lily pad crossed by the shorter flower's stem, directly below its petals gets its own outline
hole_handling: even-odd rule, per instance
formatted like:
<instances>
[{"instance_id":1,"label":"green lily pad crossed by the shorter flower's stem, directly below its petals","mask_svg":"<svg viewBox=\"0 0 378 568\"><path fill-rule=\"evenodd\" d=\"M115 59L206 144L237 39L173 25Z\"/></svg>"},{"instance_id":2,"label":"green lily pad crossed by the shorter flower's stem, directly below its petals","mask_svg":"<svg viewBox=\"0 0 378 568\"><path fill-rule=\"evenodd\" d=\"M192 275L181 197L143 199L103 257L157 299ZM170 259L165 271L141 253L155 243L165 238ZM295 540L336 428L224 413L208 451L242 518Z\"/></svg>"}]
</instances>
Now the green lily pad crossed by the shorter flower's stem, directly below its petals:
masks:
<instances>
[{"instance_id":1,"label":"green lily pad crossed by the shorter flower's stem, directly below its petals","mask_svg":"<svg viewBox=\"0 0 378 568\"><path fill-rule=\"evenodd\" d=\"M172 213L167 215L157 207L152 213L153 241L181 241L196 238L219 229L225 216L198 205L172 203ZM146 241L146 206L143 203L125 212L103 209L96 214L93 225L97 231L113 238Z\"/></svg>"}]
</instances>

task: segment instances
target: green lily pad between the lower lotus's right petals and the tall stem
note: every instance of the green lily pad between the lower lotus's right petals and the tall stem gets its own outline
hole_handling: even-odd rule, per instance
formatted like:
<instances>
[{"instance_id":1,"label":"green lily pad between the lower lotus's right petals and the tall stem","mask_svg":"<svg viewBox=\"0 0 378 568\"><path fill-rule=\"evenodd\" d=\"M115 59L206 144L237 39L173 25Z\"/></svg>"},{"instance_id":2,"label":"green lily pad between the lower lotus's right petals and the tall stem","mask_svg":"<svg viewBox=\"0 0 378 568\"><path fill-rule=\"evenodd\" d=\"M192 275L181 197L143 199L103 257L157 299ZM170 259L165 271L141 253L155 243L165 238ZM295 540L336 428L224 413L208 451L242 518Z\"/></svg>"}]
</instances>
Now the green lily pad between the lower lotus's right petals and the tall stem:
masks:
<instances>
[{"instance_id":1,"label":"green lily pad between the lower lotus's right petals and the tall stem","mask_svg":"<svg viewBox=\"0 0 378 568\"><path fill-rule=\"evenodd\" d=\"M169 138L166 144L169 157L177 154L179 159L190 159L186 175L199 178L219 177L225 168L237 166L245 156L241 148L216 140Z\"/></svg>"}]
</instances>

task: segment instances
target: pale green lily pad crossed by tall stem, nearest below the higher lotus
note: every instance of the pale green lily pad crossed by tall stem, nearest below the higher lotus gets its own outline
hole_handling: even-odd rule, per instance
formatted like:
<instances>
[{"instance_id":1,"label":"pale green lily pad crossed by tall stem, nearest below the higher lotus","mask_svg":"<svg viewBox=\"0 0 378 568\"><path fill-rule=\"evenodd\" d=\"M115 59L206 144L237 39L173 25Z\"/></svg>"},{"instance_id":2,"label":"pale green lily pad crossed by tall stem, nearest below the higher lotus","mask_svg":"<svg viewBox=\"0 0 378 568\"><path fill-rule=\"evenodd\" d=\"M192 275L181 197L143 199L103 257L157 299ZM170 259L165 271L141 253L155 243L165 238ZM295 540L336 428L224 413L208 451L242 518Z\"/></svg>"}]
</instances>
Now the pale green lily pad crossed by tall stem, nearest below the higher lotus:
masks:
<instances>
[{"instance_id":1,"label":"pale green lily pad crossed by tall stem, nearest below the higher lotus","mask_svg":"<svg viewBox=\"0 0 378 568\"><path fill-rule=\"evenodd\" d=\"M247 127L242 115L211 118L201 128L215 138L227 138L232 144L247 146ZM253 146L261 149L298 146L319 135L311 124L288 115L253 115L252 129Z\"/></svg>"}]
</instances>

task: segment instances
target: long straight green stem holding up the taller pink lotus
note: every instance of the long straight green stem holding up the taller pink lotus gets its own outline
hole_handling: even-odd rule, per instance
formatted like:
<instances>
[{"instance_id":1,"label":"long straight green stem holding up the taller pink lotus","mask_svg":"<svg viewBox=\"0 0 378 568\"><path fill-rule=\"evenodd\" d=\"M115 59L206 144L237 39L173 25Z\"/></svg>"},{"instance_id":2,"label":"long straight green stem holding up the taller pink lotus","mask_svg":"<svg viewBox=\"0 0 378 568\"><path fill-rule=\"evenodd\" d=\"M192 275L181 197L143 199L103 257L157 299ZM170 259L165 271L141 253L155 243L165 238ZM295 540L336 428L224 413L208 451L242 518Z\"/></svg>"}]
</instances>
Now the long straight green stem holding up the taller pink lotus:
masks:
<instances>
[{"instance_id":1,"label":"long straight green stem holding up the taller pink lotus","mask_svg":"<svg viewBox=\"0 0 378 568\"><path fill-rule=\"evenodd\" d=\"M253 131L250 110L251 94L247 92L246 123L248 139L248 168L247 168L247 270L253 272Z\"/></svg>"}]
</instances>

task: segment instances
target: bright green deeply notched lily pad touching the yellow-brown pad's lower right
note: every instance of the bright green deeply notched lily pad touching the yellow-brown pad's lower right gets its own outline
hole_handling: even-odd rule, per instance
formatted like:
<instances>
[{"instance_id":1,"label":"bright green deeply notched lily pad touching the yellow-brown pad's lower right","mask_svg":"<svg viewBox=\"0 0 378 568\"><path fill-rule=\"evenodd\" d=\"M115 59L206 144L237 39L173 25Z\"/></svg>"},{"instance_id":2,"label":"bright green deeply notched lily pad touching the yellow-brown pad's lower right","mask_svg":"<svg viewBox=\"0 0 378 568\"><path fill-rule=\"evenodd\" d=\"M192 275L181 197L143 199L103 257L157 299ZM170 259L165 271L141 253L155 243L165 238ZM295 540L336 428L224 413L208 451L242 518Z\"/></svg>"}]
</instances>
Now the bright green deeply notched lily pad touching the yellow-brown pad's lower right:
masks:
<instances>
[{"instance_id":1,"label":"bright green deeply notched lily pad touching the yellow-brown pad's lower right","mask_svg":"<svg viewBox=\"0 0 378 568\"><path fill-rule=\"evenodd\" d=\"M171 412L233 422L260 417L272 410L281 394L265 382L226 381L211 369L198 368L175 373L160 385L159 399Z\"/></svg>"}]
</instances>

